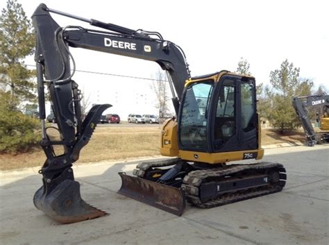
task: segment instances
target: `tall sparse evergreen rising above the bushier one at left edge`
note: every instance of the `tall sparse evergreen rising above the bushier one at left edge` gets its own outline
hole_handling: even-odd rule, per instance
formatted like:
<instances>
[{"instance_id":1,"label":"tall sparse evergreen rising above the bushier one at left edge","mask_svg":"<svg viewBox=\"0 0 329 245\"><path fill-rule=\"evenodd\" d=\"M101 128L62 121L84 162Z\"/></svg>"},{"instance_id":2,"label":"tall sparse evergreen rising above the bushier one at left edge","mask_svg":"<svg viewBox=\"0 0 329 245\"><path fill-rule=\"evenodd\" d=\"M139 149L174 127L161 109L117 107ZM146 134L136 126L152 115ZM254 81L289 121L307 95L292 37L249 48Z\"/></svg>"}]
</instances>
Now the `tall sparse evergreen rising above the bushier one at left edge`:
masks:
<instances>
[{"instance_id":1,"label":"tall sparse evergreen rising above the bushier one at left edge","mask_svg":"<svg viewBox=\"0 0 329 245\"><path fill-rule=\"evenodd\" d=\"M35 99L35 72L22 61L33 53L35 37L31 23L17 0L8 0L0 17L0 84L20 101Z\"/></svg>"}]
</instances>

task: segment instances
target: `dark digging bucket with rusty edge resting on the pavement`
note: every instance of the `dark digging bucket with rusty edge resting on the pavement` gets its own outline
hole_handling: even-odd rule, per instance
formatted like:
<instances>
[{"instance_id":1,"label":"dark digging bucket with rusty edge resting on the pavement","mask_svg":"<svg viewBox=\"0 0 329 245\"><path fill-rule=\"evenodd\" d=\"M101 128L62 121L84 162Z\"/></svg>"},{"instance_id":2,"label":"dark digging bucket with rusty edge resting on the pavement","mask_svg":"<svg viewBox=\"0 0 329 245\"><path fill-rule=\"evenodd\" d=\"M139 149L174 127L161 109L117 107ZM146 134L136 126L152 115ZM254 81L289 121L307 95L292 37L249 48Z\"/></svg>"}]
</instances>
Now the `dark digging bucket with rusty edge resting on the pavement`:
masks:
<instances>
[{"instance_id":1,"label":"dark digging bucket with rusty edge resting on the pavement","mask_svg":"<svg viewBox=\"0 0 329 245\"><path fill-rule=\"evenodd\" d=\"M60 223L76 223L106 215L83 201L77 181L64 180L47 196L44 193L44 187L35 192L35 207Z\"/></svg>"}]
</instances>

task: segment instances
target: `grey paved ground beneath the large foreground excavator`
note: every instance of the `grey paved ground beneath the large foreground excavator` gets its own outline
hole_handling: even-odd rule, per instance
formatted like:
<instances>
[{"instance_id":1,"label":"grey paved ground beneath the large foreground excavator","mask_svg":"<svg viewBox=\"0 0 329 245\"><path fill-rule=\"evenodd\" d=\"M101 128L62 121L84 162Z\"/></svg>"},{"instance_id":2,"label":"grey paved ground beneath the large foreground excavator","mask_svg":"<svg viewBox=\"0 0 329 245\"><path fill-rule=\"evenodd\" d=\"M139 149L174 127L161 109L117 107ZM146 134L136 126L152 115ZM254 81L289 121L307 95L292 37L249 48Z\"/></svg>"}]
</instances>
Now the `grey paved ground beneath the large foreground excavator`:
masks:
<instances>
[{"instance_id":1,"label":"grey paved ground beneath the large foreground excavator","mask_svg":"<svg viewBox=\"0 0 329 245\"><path fill-rule=\"evenodd\" d=\"M138 162L74 166L81 193L110 214L62 225L33 205L38 168L0 172L0 244L328 244L329 145L268 149L287 169L282 192L181 217L117 194Z\"/></svg>"}]
</instances>

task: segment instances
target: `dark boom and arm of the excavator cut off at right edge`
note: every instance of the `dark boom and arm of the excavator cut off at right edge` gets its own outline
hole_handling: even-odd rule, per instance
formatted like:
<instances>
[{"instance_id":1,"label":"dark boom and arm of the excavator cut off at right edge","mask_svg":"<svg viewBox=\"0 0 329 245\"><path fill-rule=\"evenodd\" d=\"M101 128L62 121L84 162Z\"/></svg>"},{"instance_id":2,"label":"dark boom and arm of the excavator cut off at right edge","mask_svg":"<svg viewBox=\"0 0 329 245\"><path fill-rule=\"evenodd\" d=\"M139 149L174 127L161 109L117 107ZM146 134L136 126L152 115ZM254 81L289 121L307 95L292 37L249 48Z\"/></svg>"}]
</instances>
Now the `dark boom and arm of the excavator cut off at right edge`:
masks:
<instances>
[{"instance_id":1,"label":"dark boom and arm of the excavator cut off at right edge","mask_svg":"<svg viewBox=\"0 0 329 245\"><path fill-rule=\"evenodd\" d=\"M301 119L301 124L305 131L307 139L307 146L314 146L317 140L317 133L315 132L310 116L308 113L309 108L320 108L322 115L329 112L329 95L311 95L311 96L300 96L294 97L292 105L296 111L297 116ZM319 114L318 114L319 115ZM327 115L328 117L328 115ZM329 134L324 133L322 140L329 142Z\"/></svg>"}]
</instances>

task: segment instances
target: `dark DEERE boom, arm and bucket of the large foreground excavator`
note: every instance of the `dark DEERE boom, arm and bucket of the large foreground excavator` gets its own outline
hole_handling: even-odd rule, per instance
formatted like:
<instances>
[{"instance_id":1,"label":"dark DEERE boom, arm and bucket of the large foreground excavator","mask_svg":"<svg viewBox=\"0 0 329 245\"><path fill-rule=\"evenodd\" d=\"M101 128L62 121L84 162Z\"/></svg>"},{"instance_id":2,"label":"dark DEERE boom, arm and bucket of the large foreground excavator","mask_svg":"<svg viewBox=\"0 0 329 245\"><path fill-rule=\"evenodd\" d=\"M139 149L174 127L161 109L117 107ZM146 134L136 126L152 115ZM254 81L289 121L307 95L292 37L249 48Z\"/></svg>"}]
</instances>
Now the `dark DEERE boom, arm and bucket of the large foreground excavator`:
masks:
<instances>
[{"instance_id":1,"label":"dark DEERE boom, arm and bucket of the large foreground excavator","mask_svg":"<svg viewBox=\"0 0 329 245\"><path fill-rule=\"evenodd\" d=\"M102 31L80 26L61 28L50 12L65 15ZM74 58L69 47L78 47L157 62L169 75L176 113L183 94L185 81L190 77L185 55L176 44L165 41L159 33L134 31L128 28L69 15L47 8L43 3L32 16L37 40L35 61L37 62L37 92L42 121L42 141L40 142L47 160L40 174L43 185L37 190L33 201L35 206L49 217L62 223L73 223L100 217L106 213L93 208L80 196L79 183L74 180L72 164L79 158L104 110L111 105L94 105L85 119L81 115L81 94L78 84L72 80L75 71ZM104 31L105 30L105 31ZM71 67L71 64L73 67ZM60 140L50 140L45 126L44 86L49 91ZM54 145L64 151L56 155Z\"/></svg>"}]
</instances>

